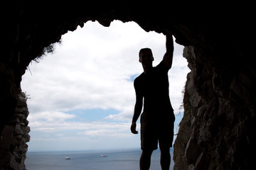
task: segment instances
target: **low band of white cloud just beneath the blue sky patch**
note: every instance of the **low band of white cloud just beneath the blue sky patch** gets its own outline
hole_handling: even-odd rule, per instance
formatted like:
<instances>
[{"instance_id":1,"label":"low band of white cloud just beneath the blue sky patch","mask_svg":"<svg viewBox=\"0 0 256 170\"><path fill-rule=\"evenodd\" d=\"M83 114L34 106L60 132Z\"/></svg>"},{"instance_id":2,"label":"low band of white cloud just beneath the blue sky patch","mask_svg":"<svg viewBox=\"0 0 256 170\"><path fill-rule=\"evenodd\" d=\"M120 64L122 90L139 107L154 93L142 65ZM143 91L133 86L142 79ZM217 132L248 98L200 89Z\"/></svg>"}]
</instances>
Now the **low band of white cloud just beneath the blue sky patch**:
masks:
<instances>
[{"instance_id":1,"label":"low band of white cloud just beneath the blue sky patch","mask_svg":"<svg viewBox=\"0 0 256 170\"><path fill-rule=\"evenodd\" d=\"M32 130L50 133L55 132L58 137L66 137L60 135L60 132L72 130L80 137L130 137L132 133L129 130L130 123L106 123L106 122L74 122L74 121L33 121L31 122ZM138 124L138 129L139 129ZM52 138L51 136L45 138Z\"/></svg>"}]
</instances>

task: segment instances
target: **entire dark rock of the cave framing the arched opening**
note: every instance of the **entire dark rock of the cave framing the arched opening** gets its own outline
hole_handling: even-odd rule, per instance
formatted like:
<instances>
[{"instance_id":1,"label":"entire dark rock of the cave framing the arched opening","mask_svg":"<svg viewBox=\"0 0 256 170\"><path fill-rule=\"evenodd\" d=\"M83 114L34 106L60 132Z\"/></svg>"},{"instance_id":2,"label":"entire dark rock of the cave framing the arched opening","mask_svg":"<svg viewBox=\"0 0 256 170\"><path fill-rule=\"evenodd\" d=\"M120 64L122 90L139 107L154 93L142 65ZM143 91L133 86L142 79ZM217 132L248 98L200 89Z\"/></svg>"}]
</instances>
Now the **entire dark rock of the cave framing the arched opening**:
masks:
<instances>
[{"instance_id":1,"label":"entire dark rock of the cave framing the arched opening","mask_svg":"<svg viewBox=\"0 0 256 170\"><path fill-rule=\"evenodd\" d=\"M25 169L26 67L68 30L99 21L134 21L171 33L186 46L185 113L174 145L175 169L250 169L255 160L255 9L253 4L152 1L8 1L1 15L0 169ZM21 103L22 106L21 107ZM26 110L26 111L25 111Z\"/></svg>"}]
</instances>

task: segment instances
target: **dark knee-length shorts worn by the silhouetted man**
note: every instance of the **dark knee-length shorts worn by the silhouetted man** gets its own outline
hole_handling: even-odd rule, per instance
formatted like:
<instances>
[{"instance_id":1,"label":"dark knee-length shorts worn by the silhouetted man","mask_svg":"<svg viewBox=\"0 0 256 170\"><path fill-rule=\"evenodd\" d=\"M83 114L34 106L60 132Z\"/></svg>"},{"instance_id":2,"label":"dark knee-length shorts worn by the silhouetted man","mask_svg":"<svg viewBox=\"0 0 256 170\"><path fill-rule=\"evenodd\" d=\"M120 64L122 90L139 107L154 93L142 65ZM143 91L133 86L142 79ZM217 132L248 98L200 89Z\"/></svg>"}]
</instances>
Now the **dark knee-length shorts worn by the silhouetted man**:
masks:
<instances>
[{"instance_id":1,"label":"dark knee-length shorts worn by the silhouetted man","mask_svg":"<svg viewBox=\"0 0 256 170\"><path fill-rule=\"evenodd\" d=\"M172 113L173 114L173 113ZM142 149L157 149L158 142L166 147L172 147L174 140L174 115L169 118L149 118L147 113L141 115L141 147Z\"/></svg>"}]
</instances>

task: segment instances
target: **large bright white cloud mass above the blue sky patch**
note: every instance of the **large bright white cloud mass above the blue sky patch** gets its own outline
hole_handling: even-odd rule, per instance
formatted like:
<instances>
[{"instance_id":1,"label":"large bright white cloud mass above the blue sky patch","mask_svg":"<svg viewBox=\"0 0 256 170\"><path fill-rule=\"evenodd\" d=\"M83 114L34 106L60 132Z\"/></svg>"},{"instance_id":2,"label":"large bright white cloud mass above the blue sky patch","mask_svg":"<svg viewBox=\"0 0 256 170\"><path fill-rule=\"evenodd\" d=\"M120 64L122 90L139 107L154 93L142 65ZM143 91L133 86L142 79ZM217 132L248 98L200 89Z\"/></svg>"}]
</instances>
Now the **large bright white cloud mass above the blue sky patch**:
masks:
<instances>
[{"instance_id":1,"label":"large bright white cloud mass above the blue sky patch","mask_svg":"<svg viewBox=\"0 0 256 170\"><path fill-rule=\"evenodd\" d=\"M127 105L133 105L134 89L129 79L142 72L138 46L155 48L155 51L152 49L156 56L154 63L158 64L164 55L165 41L164 35L146 33L139 26L135 27L136 23L128 24L113 22L117 27L105 33L106 28L86 23L85 29L78 28L64 35L54 55L31 64L32 75L26 74L22 83L23 90L31 94L31 101L28 101L31 112L75 108L122 111ZM174 64L180 64L180 58L183 60L179 56L174 58ZM177 79L182 79L181 72L176 72L176 77L171 77L170 81L176 83Z\"/></svg>"}]
</instances>

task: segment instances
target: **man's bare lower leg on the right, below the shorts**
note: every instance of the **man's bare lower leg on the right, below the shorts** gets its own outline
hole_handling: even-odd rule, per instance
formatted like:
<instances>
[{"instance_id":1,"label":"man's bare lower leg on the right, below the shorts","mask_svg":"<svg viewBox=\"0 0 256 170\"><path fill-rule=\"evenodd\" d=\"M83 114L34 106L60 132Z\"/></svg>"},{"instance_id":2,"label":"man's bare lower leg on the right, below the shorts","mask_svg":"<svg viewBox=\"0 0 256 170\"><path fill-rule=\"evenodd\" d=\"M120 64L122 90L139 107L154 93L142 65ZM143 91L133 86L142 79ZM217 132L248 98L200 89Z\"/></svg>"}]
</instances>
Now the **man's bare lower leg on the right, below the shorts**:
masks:
<instances>
[{"instance_id":1,"label":"man's bare lower leg on the right, below the shorts","mask_svg":"<svg viewBox=\"0 0 256 170\"><path fill-rule=\"evenodd\" d=\"M160 159L160 164L161 164L161 169L162 170L169 170L170 169L170 164L171 164L171 154L170 154L170 147L161 145L159 143L159 148L161 151L161 159Z\"/></svg>"}]
</instances>

